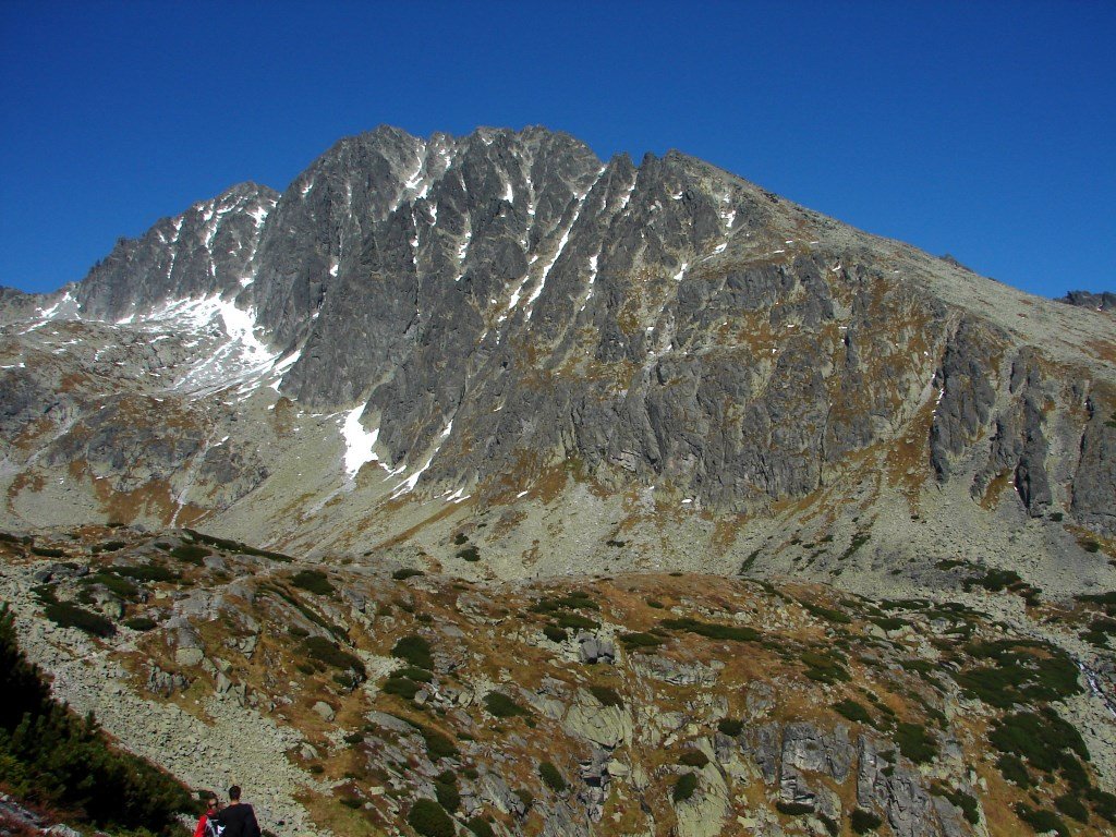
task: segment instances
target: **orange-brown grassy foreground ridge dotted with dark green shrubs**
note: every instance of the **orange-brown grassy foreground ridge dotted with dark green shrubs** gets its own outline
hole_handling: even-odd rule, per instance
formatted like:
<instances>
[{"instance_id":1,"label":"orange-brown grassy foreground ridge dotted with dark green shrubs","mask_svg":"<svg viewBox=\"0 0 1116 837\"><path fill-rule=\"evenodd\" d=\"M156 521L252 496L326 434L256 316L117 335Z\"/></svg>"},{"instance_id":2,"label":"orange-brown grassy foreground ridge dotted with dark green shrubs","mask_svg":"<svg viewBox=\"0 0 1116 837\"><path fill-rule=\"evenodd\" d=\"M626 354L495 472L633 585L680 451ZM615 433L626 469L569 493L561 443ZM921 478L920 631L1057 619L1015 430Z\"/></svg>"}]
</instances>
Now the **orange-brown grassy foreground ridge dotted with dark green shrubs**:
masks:
<instances>
[{"instance_id":1,"label":"orange-brown grassy foreground ridge dotted with dark green shrubs","mask_svg":"<svg viewBox=\"0 0 1116 837\"><path fill-rule=\"evenodd\" d=\"M477 584L126 528L0 552L56 694L195 787L239 781L276 834L1116 825L1113 593L1011 627L989 614L1027 591L994 579Z\"/></svg>"}]
</instances>

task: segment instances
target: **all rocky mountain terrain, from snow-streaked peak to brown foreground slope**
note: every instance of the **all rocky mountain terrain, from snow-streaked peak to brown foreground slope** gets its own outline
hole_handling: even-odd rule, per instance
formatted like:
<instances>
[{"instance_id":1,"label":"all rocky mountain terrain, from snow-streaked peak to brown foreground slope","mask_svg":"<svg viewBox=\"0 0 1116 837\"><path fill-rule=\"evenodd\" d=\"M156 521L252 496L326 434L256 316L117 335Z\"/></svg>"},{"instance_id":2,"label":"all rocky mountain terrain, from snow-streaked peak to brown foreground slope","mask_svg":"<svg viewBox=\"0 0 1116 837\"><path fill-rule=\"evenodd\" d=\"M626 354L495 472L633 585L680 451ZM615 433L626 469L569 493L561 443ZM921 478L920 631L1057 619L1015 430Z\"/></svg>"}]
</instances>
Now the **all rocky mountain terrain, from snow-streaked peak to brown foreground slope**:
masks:
<instances>
[{"instance_id":1,"label":"all rocky mountain terrain, from snow-streaked peak to brown foreground slope","mask_svg":"<svg viewBox=\"0 0 1116 837\"><path fill-rule=\"evenodd\" d=\"M0 289L3 597L276 834L1101 833L1110 297L381 127Z\"/></svg>"}]
</instances>

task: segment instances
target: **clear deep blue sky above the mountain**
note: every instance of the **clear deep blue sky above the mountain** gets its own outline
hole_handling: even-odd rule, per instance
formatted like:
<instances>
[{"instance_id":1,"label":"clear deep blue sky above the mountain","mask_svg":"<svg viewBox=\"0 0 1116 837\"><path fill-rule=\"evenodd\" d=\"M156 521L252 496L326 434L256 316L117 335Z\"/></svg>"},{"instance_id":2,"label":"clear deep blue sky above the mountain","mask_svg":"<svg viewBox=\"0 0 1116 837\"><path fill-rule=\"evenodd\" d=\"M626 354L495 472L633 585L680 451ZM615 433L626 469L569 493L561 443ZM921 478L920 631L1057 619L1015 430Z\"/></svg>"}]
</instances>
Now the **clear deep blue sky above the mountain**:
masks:
<instances>
[{"instance_id":1,"label":"clear deep blue sky above the mountain","mask_svg":"<svg viewBox=\"0 0 1116 837\"><path fill-rule=\"evenodd\" d=\"M0 285L340 136L679 148L1045 296L1116 290L1113 2L0 2Z\"/></svg>"}]
</instances>

